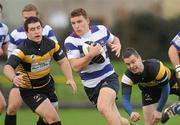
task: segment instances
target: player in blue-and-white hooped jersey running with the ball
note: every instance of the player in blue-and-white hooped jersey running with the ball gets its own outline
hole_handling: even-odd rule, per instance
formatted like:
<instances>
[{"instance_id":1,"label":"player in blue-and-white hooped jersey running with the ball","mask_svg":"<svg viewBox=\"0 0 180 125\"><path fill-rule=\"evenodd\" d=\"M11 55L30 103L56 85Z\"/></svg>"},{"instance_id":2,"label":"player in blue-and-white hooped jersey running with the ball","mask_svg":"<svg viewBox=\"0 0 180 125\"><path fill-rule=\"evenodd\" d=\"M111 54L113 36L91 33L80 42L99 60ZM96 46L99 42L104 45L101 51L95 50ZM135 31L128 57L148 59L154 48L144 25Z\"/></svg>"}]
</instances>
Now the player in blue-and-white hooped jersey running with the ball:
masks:
<instances>
[{"instance_id":1,"label":"player in blue-and-white hooped jersey running with the ball","mask_svg":"<svg viewBox=\"0 0 180 125\"><path fill-rule=\"evenodd\" d=\"M119 81L108 55L104 62L93 61L102 53L102 48L107 52L107 46L119 57L120 40L103 25L89 26L89 17L82 8L71 12L70 21L74 32L66 38L64 46L72 69L80 74L89 100L96 104L109 125L129 125L115 104ZM91 44L84 54L82 45L88 41L96 44Z\"/></svg>"}]
</instances>

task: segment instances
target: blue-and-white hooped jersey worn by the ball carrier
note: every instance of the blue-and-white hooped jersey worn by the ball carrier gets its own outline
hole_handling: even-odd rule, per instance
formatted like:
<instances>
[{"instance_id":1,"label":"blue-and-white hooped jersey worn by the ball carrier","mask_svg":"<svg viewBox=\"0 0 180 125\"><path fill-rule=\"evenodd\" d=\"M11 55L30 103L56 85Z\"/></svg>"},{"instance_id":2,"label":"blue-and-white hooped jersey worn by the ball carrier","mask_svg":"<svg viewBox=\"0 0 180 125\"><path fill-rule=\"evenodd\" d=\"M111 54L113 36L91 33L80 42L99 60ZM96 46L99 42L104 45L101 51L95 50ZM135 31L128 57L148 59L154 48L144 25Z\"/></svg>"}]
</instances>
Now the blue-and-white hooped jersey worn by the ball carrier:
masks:
<instances>
[{"instance_id":1,"label":"blue-and-white hooped jersey worn by the ball carrier","mask_svg":"<svg viewBox=\"0 0 180 125\"><path fill-rule=\"evenodd\" d=\"M90 27L89 32L78 36L74 32L65 40L64 46L69 59L83 57L82 44L86 41L99 43L106 52L105 62L102 64L89 64L80 71L80 77L85 87L95 87L101 80L113 74L115 71L107 55L107 43L112 42L114 35L103 25Z\"/></svg>"}]
</instances>

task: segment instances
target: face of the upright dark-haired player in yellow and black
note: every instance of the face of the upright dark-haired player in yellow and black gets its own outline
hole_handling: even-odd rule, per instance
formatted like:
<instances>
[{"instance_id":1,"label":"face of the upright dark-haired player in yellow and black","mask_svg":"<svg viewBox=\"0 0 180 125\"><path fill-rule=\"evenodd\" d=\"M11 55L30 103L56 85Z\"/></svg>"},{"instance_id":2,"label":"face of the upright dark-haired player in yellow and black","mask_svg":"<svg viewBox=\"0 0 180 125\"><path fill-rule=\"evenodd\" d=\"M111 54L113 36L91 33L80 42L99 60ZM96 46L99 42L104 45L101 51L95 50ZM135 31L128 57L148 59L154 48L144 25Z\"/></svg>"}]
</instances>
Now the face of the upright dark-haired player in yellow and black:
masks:
<instances>
[{"instance_id":1,"label":"face of the upright dark-haired player in yellow and black","mask_svg":"<svg viewBox=\"0 0 180 125\"><path fill-rule=\"evenodd\" d=\"M42 40L42 26L40 22L28 24L28 32L26 32L28 39L40 43Z\"/></svg>"}]
</instances>

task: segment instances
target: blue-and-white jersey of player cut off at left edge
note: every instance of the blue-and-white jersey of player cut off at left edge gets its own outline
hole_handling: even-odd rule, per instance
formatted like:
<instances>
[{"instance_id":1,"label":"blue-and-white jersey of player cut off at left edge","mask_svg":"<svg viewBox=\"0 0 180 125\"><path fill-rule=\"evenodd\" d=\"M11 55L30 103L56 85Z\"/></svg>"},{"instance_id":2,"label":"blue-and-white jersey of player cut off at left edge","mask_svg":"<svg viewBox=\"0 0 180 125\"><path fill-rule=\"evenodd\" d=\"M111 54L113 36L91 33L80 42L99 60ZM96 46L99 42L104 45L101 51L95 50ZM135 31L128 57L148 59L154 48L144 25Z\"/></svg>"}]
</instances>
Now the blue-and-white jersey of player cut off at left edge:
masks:
<instances>
[{"instance_id":1,"label":"blue-and-white jersey of player cut off at left edge","mask_svg":"<svg viewBox=\"0 0 180 125\"><path fill-rule=\"evenodd\" d=\"M0 47L9 41L8 27L0 22Z\"/></svg>"}]
</instances>

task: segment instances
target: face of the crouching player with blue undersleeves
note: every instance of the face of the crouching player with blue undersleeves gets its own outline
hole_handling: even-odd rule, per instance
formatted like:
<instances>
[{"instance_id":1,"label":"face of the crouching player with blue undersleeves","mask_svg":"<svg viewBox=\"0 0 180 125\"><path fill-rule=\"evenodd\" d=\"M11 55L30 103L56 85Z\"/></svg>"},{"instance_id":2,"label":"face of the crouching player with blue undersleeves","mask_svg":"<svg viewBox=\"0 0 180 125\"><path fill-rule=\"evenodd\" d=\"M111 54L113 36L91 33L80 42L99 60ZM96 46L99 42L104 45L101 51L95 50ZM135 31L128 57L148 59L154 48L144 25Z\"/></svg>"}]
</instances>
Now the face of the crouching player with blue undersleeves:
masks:
<instances>
[{"instance_id":1,"label":"face of the crouching player with blue undersleeves","mask_svg":"<svg viewBox=\"0 0 180 125\"><path fill-rule=\"evenodd\" d=\"M129 58L124 58L124 63L127 65L127 68L134 74L141 73L144 70L144 65L140 56L136 57L131 55Z\"/></svg>"}]
</instances>

